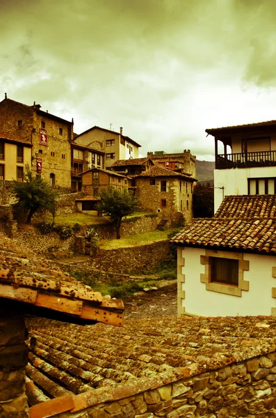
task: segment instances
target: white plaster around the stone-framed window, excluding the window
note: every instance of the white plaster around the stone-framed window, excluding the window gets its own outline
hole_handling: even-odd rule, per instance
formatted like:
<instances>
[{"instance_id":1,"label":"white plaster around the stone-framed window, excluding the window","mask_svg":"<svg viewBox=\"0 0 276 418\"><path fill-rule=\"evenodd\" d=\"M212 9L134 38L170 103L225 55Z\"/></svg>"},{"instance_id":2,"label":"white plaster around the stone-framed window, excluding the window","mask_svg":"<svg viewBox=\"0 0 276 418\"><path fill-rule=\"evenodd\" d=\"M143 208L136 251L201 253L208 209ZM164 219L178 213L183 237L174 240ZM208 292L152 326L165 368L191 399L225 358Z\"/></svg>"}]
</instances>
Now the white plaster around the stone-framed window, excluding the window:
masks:
<instances>
[{"instance_id":1,"label":"white plaster around the stone-framed window, excluding the window","mask_svg":"<svg viewBox=\"0 0 276 418\"><path fill-rule=\"evenodd\" d=\"M187 313L200 316L271 315L271 308L276 307L276 299L271 295L272 288L276 287L276 279L272 277L276 257L244 254L243 259L249 261L249 270L243 272L243 279L249 281L249 291L242 291L238 297L206 291L206 284L200 282L200 273L205 272L205 266L200 264L201 255L205 255L204 249L181 247L181 256L185 258L181 268L185 282L179 288L185 291L185 298L178 300Z\"/></svg>"}]
</instances>

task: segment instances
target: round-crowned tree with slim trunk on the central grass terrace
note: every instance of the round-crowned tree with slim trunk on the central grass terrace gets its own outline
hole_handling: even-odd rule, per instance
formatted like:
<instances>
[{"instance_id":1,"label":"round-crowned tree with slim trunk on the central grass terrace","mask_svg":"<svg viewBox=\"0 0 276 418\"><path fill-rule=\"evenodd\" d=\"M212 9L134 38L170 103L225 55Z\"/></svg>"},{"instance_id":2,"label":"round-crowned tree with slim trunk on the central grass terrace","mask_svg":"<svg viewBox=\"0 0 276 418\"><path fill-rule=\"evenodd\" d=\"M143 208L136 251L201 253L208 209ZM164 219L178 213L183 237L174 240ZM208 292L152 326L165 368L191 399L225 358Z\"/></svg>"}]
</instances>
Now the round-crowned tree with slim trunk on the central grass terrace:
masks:
<instances>
[{"instance_id":1,"label":"round-crowned tree with slim trunk on the central grass terrace","mask_svg":"<svg viewBox=\"0 0 276 418\"><path fill-rule=\"evenodd\" d=\"M137 201L133 192L129 191L126 187L121 192L109 186L107 189L103 189L99 196L101 200L97 204L97 210L106 214L114 222L116 238L119 240L122 218L131 215L137 208Z\"/></svg>"}]
</instances>

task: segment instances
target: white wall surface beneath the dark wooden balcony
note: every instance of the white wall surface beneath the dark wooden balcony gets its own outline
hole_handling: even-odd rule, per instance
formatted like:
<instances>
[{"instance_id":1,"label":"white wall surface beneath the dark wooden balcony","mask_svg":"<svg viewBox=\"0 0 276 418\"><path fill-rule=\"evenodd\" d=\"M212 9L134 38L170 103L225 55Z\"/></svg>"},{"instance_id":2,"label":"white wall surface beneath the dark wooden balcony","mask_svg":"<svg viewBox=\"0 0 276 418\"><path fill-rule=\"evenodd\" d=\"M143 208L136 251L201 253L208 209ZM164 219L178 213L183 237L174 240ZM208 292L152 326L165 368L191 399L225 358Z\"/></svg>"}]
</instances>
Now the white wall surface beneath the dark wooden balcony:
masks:
<instances>
[{"instance_id":1,"label":"white wall surface beneath the dark wooden balcony","mask_svg":"<svg viewBox=\"0 0 276 418\"><path fill-rule=\"evenodd\" d=\"M224 186L224 195L247 194L247 178L275 177L275 167L252 167L247 169L225 169L214 170L214 209L218 210L222 202L222 189Z\"/></svg>"}]
</instances>

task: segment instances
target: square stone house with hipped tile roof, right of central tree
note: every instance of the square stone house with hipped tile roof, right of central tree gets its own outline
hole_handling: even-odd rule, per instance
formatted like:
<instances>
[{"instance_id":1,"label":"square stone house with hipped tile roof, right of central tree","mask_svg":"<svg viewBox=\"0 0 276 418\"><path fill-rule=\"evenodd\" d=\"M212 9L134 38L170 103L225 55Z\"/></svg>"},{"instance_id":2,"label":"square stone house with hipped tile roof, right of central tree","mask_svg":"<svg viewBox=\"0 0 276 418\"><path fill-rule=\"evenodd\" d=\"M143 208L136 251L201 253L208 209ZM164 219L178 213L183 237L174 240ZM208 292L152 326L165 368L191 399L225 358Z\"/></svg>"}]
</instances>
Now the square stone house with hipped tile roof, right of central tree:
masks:
<instances>
[{"instance_id":1,"label":"square stone house with hipped tile roof, right of central tree","mask_svg":"<svg viewBox=\"0 0 276 418\"><path fill-rule=\"evenodd\" d=\"M161 212L164 219L175 224L181 217L188 223L193 218L193 183L188 176L159 164L133 176L135 196L140 208Z\"/></svg>"}]
</instances>

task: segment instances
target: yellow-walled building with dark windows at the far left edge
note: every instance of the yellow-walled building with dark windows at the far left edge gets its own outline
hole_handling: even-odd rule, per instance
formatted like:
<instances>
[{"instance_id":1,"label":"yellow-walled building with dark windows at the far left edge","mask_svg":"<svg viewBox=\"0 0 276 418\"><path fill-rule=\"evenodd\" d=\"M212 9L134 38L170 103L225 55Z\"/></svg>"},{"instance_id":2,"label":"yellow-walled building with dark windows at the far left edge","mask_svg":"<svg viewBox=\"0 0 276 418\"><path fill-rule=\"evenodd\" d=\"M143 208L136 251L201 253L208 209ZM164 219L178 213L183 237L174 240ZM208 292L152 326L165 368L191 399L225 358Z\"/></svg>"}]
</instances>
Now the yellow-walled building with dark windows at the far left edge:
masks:
<instances>
[{"instance_id":1,"label":"yellow-walled building with dark windows at the far left edge","mask_svg":"<svg viewBox=\"0 0 276 418\"><path fill-rule=\"evenodd\" d=\"M24 165L31 167L32 144L0 132L0 180L23 181Z\"/></svg>"}]
</instances>

